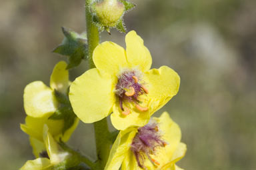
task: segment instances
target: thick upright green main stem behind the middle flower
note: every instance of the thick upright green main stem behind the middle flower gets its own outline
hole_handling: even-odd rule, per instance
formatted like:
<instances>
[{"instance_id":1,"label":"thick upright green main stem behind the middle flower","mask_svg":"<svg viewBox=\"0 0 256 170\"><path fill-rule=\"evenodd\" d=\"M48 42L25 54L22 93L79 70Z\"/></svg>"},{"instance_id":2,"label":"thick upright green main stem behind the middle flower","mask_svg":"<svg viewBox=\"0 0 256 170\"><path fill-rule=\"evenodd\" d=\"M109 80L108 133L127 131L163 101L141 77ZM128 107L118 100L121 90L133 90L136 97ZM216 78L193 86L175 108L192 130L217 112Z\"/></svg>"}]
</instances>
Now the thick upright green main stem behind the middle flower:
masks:
<instances>
[{"instance_id":1,"label":"thick upright green main stem behind the middle flower","mask_svg":"<svg viewBox=\"0 0 256 170\"><path fill-rule=\"evenodd\" d=\"M85 16L87 24L87 43L89 51L89 67L95 68L93 63L93 50L99 44L99 29L93 24L90 5L93 0L85 0ZM93 123L95 129L95 143L100 169L104 169L109 157L111 141L109 140L109 128L107 118Z\"/></svg>"}]
</instances>

